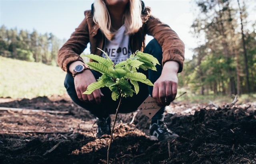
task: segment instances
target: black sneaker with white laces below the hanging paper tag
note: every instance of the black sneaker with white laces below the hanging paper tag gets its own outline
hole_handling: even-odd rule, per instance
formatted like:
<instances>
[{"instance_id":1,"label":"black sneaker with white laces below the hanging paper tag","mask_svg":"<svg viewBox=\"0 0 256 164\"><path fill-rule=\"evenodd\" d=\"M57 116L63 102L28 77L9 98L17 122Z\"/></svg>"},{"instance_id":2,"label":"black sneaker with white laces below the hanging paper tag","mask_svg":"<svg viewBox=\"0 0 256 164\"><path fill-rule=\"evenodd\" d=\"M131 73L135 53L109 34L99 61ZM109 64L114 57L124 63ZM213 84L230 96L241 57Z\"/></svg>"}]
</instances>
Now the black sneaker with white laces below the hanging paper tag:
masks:
<instances>
[{"instance_id":1,"label":"black sneaker with white laces below the hanging paper tag","mask_svg":"<svg viewBox=\"0 0 256 164\"><path fill-rule=\"evenodd\" d=\"M167 128L166 123L158 120L157 123L153 123L149 127L150 140L166 141L168 139L178 138L179 135L172 132Z\"/></svg>"}]
</instances>

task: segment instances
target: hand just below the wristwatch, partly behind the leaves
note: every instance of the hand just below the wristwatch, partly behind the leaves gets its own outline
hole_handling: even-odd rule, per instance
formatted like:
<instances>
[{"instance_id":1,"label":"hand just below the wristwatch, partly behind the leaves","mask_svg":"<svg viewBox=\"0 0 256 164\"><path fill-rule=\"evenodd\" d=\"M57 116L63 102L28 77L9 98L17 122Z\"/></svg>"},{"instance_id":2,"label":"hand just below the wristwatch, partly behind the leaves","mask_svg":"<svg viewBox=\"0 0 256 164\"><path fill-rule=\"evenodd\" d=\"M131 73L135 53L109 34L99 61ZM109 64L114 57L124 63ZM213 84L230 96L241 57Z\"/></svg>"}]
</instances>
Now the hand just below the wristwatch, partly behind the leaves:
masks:
<instances>
[{"instance_id":1,"label":"hand just below the wristwatch, partly behind the leaves","mask_svg":"<svg viewBox=\"0 0 256 164\"><path fill-rule=\"evenodd\" d=\"M96 79L89 69L86 69L74 77L74 84L78 99L85 102L100 104L101 98L104 96L100 89L96 89L90 95L83 94L88 85L94 82L96 82Z\"/></svg>"}]
</instances>

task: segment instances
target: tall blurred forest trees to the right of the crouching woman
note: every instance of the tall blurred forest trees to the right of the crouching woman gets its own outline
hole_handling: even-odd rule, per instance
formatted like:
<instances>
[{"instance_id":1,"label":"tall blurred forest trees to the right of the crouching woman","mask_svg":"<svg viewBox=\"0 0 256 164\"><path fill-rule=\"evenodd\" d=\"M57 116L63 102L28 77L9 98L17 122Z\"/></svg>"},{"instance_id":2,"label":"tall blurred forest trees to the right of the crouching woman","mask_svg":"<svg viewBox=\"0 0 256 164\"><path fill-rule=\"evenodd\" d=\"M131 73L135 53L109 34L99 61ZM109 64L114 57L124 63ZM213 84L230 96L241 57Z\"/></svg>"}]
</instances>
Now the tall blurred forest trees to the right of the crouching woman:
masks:
<instances>
[{"instance_id":1,"label":"tall blurred forest trees to the right of the crouching woman","mask_svg":"<svg viewBox=\"0 0 256 164\"><path fill-rule=\"evenodd\" d=\"M254 26L249 27L250 30L244 29L246 61L237 1L194 2L198 16L191 26L192 33L196 38L205 38L205 41L198 43L191 60L185 60L184 71L179 74L180 87L197 95L255 93L256 20ZM242 3L241 19L244 27L248 27L247 16L246 5Z\"/></svg>"}]
</instances>

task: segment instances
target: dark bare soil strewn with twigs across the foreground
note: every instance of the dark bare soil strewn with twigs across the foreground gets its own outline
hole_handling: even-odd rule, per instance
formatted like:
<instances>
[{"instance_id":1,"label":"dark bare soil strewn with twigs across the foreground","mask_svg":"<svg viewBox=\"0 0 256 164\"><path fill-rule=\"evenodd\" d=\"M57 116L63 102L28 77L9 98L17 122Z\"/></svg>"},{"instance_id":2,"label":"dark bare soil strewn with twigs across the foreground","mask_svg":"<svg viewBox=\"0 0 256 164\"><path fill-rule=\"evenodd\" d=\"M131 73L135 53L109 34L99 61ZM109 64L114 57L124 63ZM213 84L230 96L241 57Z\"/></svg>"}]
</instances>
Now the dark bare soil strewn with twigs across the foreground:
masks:
<instances>
[{"instance_id":1,"label":"dark bare soil strewn with twigs across the foreground","mask_svg":"<svg viewBox=\"0 0 256 164\"><path fill-rule=\"evenodd\" d=\"M110 136L95 138L95 118L67 96L9 101L0 106L69 113L0 111L0 164L106 163ZM206 105L171 106L176 107L175 114L168 111L165 121L180 137L166 142L149 140L149 120L142 113L136 114L131 125L135 113L120 114L110 163L256 164L255 103L229 104L217 110ZM184 113L188 108L194 115Z\"/></svg>"}]
</instances>

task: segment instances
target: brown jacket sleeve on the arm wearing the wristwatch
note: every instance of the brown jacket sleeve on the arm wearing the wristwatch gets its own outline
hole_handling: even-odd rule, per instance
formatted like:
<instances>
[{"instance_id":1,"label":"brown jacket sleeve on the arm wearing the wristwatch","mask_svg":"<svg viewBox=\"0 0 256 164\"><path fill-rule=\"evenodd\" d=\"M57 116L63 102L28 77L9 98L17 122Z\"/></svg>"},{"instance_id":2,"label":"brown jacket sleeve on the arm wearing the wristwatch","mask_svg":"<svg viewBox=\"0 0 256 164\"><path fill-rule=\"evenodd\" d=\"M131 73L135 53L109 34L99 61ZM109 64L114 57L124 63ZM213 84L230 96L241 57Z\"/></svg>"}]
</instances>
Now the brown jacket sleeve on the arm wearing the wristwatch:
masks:
<instances>
[{"instance_id":1,"label":"brown jacket sleeve on the arm wearing the wristwatch","mask_svg":"<svg viewBox=\"0 0 256 164\"><path fill-rule=\"evenodd\" d=\"M86 49L89 42L88 24L86 18L81 22L70 39L58 51L58 65L64 71L69 72L68 67L74 61L82 61L80 54Z\"/></svg>"}]
</instances>

